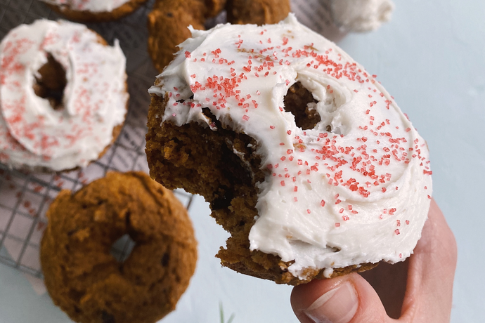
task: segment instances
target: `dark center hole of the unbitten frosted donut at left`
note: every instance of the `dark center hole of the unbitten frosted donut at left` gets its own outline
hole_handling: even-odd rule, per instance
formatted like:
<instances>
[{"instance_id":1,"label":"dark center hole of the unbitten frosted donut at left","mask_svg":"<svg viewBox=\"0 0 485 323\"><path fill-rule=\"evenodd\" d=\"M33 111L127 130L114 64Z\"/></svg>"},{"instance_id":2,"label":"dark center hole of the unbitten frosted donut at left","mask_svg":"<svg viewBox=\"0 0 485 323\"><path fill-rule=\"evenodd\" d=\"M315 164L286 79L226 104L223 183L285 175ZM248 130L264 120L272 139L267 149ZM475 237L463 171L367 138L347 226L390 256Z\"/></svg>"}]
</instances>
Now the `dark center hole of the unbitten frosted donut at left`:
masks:
<instances>
[{"instance_id":1,"label":"dark center hole of the unbitten frosted donut at left","mask_svg":"<svg viewBox=\"0 0 485 323\"><path fill-rule=\"evenodd\" d=\"M49 53L47 62L39 68L34 77L35 95L48 100L54 110L62 110L64 88L67 84L63 65Z\"/></svg>"}]
</instances>

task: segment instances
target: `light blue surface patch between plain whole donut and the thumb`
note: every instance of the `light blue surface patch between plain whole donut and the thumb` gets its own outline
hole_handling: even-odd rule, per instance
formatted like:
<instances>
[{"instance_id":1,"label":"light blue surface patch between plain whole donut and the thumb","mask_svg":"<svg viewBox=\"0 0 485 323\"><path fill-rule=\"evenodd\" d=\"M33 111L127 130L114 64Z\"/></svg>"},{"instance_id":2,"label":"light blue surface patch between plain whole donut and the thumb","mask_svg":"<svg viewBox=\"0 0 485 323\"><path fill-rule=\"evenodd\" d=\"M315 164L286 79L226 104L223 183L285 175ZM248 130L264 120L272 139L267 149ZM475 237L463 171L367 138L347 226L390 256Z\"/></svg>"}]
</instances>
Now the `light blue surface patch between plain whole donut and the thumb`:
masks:
<instances>
[{"instance_id":1,"label":"light blue surface patch between plain whole donut and the thumb","mask_svg":"<svg viewBox=\"0 0 485 323\"><path fill-rule=\"evenodd\" d=\"M222 268L214 255L228 234L209 216L209 204L196 197L190 216L199 242L199 261L190 286L163 323L219 323L219 303L224 317L234 323L298 322L290 307L290 286L238 274Z\"/></svg>"}]
</instances>

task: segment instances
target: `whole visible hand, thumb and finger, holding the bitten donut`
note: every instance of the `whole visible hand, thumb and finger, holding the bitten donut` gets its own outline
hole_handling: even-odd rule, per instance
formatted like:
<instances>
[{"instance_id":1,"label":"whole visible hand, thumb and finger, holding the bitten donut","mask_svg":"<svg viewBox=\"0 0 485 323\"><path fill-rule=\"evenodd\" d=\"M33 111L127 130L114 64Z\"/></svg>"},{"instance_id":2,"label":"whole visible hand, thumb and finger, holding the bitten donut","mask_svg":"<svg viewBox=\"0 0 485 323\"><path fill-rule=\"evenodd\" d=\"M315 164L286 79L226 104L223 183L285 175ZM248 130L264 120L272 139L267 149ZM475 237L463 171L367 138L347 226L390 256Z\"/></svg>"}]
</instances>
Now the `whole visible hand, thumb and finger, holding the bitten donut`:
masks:
<instances>
[{"instance_id":1,"label":"whole visible hand, thumb and finger, holding the bitten donut","mask_svg":"<svg viewBox=\"0 0 485 323\"><path fill-rule=\"evenodd\" d=\"M406 262L296 286L292 308L302 323L449 322L456 258L455 237L433 199Z\"/></svg>"}]
</instances>

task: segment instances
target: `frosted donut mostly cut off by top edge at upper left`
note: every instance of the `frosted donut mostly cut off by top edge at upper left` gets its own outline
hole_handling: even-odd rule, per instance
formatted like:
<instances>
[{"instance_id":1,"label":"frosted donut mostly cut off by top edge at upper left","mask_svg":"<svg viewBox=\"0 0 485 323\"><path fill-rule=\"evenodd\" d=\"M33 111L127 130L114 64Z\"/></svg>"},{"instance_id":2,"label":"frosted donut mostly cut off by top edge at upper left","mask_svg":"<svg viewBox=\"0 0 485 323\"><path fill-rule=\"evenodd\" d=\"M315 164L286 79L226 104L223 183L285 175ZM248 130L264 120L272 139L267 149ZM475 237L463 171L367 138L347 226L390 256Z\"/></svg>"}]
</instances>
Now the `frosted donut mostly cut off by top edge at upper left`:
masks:
<instances>
[{"instance_id":1,"label":"frosted donut mostly cut off by top edge at upper left","mask_svg":"<svg viewBox=\"0 0 485 323\"><path fill-rule=\"evenodd\" d=\"M41 0L70 20L103 22L118 20L136 11L147 0Z\"/></svg>"}]
</instances>

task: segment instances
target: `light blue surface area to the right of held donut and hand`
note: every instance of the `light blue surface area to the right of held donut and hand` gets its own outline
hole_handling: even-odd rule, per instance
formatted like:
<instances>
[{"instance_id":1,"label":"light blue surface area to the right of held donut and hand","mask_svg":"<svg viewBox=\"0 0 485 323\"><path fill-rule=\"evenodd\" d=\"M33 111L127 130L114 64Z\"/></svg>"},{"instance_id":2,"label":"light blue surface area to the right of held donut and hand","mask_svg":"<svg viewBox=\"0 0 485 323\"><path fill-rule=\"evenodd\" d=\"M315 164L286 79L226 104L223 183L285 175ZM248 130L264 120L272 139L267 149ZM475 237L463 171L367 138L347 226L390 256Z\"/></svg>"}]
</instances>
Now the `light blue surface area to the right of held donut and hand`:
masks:
<instances>
[{"instance_id":1,"label":"light blue surface area to the right of held donut and hand","mask_svg":"<svg viewBox=\"0 0 485 323\"><path fill-rule=\"evenodd\" d=\"M389 24L339 45L427 140L433 196L458 242L451 322L485 322L485 2L395 2Z\"/></svg>"}]
</instances>

